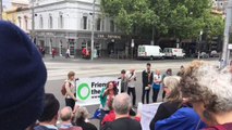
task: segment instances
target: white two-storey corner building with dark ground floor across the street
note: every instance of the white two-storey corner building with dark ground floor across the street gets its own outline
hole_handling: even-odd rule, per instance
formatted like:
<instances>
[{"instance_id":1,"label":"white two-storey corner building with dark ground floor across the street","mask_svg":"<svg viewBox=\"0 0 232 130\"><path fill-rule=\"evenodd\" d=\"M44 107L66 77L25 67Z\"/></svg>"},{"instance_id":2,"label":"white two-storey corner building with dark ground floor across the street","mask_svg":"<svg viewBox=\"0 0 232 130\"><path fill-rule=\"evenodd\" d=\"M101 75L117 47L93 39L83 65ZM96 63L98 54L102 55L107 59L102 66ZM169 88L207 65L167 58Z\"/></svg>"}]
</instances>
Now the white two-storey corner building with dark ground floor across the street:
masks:
<instances>
[{"instance_id":1,"label":"white two-storey corner building with dark ground floor across the street","mask_svg":"<svg viewBox=\"0 0 232 130\"><path fill-rule=\"evenodd\" d=\"M112 18L100 13L100 1L94 0L37 0L35 6L36 44L51 53L82 56L82 49L90 49L91 22L95 22L95 46L99 56L118 54L124 50L125 37L118 30Z\"/></svg>"}]
</instances>

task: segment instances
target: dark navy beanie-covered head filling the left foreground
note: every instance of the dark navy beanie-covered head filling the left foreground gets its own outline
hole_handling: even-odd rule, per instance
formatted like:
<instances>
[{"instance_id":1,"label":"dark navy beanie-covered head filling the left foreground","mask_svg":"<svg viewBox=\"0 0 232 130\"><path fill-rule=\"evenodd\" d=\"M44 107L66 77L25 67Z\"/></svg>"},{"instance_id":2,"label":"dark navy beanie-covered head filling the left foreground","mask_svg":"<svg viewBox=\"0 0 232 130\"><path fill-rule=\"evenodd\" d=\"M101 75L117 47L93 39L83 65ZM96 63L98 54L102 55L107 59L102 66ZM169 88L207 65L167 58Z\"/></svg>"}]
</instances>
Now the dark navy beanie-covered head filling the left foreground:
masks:
<instances>
[{"instance_id":1,"label":"dark navy beanie-covered head filling the left foreground","mask_svg":"<svg viewBox=\"0 0 232 130\"><path fill-rule=\"evenodd\" d=\"M0 126L23 130L42 113L47 70L35 44L17 26L0 21Z\"/></svg>"}]
</instances>

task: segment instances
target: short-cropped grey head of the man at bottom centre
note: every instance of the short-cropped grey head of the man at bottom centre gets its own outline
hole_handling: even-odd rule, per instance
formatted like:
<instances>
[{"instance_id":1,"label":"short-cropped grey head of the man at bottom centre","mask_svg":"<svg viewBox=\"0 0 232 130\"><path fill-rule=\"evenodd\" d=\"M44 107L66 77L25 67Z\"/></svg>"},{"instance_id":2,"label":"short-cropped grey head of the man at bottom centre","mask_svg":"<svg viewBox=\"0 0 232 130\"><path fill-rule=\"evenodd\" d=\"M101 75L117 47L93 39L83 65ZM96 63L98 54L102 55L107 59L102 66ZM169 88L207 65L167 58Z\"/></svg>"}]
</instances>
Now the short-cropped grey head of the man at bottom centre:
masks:
<instances>
[{"instance_id":1,"label":"short-cropped grey head of the man at bottom centre","mask_svg":"<svg viewBox=\"0 0 232 130\"><path fill-rule=\"evenodd\" d=\"M118 115L129 114L132 107L131 98L126 93L120 93L113 99L113 109Z\"/></svg>"}]
</instances>

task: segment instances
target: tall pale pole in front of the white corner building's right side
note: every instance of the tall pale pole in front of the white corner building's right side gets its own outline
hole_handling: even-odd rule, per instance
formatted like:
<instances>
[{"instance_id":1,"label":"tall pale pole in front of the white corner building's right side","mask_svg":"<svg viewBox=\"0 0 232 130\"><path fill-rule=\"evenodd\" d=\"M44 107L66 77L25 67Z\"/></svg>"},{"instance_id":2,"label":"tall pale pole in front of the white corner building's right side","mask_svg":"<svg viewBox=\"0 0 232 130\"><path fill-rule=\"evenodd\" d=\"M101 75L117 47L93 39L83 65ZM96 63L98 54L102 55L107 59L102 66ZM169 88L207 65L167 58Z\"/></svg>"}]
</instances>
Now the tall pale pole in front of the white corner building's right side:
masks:
<instances>
[{"instance_id":1,"label":"tall pale pole in front of the white corner building's right side","mask_svg":"<svg viewBox=\"0 0 232 130\"><path fill-rule=\"evenodd\" d=\"M91 20L91 61L94 60L94 46L95 46L95 2L93 2L93 20Z\"/></svg>"}]
</instances>

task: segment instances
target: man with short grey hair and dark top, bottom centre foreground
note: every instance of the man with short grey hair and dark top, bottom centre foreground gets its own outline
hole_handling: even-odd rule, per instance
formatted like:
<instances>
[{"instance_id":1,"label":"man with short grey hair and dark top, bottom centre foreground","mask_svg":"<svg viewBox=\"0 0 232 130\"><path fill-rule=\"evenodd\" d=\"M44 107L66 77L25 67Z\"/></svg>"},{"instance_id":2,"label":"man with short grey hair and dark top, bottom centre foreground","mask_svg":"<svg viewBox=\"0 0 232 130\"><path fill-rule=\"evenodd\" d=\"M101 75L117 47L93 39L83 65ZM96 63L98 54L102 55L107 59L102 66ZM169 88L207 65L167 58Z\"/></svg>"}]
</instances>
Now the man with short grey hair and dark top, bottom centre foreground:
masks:
<instances>
[{"instance_id":1,"label":"man with short grey hair and dark top, bottom centre foreground","mask_svg":"<svg viewBox=\"0 0 232 130\"><path fill-rule=\"evenodd\" d=\"M118 94L113 100L115 120L101 128L101 130L142 130L141 123L130 118L131 107L130 95L126 93Z\"/></svg>"}]
</instances>

